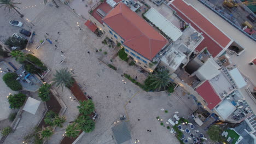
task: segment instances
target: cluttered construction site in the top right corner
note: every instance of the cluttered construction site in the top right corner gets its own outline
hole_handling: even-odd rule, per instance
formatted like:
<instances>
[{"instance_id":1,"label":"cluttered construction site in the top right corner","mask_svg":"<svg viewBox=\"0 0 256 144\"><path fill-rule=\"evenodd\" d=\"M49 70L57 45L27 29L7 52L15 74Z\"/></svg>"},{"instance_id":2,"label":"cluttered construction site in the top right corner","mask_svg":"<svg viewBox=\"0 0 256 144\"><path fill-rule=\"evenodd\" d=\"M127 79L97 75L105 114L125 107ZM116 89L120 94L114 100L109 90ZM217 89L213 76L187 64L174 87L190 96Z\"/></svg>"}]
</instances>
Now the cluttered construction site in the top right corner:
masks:
<instances>
[{"instance_id":1,"label":"cluttered construction site in the top right corner","mask_svg":"<svg viewBox=\"0 0 256 144\"><path fill-rule=\"evenodd\" d=\"M219 15L256 38L256 0L201 0Z\"/></svg>"}]
</instances>

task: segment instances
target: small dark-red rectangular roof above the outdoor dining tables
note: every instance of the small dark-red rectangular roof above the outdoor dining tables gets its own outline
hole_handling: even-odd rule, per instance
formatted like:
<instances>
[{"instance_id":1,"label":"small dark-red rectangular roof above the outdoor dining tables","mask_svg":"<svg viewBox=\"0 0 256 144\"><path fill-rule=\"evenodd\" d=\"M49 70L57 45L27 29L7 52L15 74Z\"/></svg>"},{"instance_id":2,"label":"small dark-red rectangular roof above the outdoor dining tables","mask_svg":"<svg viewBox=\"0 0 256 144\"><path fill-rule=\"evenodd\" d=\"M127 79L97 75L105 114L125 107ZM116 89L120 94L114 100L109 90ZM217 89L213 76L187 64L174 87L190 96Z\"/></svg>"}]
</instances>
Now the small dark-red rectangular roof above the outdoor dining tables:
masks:
<instances>
[{"instance_id":1,"label":"small dark-red rectangular roof above the outdoor dining tables","mask_svg":"<svg viewBox=\"0 0 256 144\"><path fill-rule=\"evenodd\" d=\"M201 86L196 88L196 92L201 95L203 99L207 102L207 107L209 109L213 109L217 106L220 101L219 95L214 91L209 81L204 82Z\"/></svg>"}]
</instances>

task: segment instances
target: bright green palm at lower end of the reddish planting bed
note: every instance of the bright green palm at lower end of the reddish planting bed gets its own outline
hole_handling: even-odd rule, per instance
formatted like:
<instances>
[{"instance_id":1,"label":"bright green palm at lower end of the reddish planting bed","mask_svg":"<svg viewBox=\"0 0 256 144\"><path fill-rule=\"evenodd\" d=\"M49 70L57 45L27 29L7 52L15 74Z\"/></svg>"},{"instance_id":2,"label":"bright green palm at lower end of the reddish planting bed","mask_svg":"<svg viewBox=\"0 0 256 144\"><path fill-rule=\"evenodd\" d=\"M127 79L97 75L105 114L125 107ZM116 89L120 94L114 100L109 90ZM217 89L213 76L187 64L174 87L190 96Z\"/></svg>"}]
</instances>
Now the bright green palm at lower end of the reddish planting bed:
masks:
<instances>
[{"instance_id":1,"label":"bright green palm at lower end of the reddish planting bed","mask_svg":"<svg viewBox=\"0 0 256 144\"><path fill-rule=\"evenodd\" d=\"M79 113L83 113L84 115L90 115L92 112L94 112L94 103L92 100L84 100L84 101L79 101L80 106L77 106L79 109Z\"/></svg>"}]
</instances>

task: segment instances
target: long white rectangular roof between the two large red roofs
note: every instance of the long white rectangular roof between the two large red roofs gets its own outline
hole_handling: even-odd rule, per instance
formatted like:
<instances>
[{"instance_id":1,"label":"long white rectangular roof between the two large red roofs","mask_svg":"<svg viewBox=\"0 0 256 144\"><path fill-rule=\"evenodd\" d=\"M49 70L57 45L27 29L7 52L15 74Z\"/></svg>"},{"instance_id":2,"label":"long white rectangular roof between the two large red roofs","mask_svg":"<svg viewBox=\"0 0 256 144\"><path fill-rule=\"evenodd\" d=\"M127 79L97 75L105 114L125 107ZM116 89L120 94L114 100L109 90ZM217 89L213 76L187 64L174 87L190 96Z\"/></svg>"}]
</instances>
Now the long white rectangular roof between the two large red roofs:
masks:
<instances>
[{"instance_id":1,"label":"long white rectangular roof between the two large red roofs","mask_svg":"<svg viewBox=\"0 0 256 144\"><path fill-rule=\"evenodd\" d=\"M168 35L168 37L170 37L173 41L176 41L179 37L181 37L182 31L174 26L154 8L150 8L144 16L146 16L149 21L161 29L161 31Z\"/></svg>"}]
</instances>

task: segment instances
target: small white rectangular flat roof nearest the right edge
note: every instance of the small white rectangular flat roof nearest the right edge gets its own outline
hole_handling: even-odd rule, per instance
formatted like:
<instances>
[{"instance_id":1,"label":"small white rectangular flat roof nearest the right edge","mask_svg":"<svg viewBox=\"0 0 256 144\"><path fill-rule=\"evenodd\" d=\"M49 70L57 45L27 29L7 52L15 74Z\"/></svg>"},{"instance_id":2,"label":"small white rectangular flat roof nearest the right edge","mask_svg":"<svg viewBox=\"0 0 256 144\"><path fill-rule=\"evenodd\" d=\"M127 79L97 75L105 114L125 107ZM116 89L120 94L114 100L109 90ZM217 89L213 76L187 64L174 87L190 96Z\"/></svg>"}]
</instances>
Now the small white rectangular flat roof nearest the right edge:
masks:
<instances>
[{"instance_id":1,"label":"small white rectangular flat roof nearest the right edge","mask_svg":"<svg viewBox=\"0 0 256 144\"><path fill-rule=\"evenodd\" d=\"M237 88L242 88L247 85L245 79L237 68L230 70L229 73L235 81Z\"/></svg>"}]
</instances>

